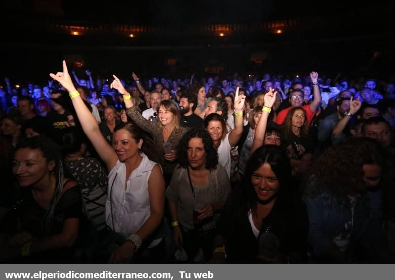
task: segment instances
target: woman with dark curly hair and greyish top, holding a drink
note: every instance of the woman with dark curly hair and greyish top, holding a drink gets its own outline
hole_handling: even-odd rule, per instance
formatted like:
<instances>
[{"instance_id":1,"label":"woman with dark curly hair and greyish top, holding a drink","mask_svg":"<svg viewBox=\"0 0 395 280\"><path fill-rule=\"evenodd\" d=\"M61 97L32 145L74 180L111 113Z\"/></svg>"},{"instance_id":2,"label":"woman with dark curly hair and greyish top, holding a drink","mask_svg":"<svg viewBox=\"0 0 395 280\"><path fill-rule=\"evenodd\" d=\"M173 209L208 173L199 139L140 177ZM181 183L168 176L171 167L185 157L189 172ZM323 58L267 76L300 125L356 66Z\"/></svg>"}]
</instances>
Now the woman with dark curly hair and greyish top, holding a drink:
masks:
<instances>
[{"instance_id":1,"label":"woman with dark curly hair and greyish top, holding a drink","mask_svg":"<svg viewBox=\"0 0 395 280\"><path fill-rule=\"evenodd\" d=\"M166 191L173 238L193 261L199 247L206 260L212 255L213 228L230 193L217 149L203 129L190 130L178 147L179 164Z\"/></svg>"}]
</instances>

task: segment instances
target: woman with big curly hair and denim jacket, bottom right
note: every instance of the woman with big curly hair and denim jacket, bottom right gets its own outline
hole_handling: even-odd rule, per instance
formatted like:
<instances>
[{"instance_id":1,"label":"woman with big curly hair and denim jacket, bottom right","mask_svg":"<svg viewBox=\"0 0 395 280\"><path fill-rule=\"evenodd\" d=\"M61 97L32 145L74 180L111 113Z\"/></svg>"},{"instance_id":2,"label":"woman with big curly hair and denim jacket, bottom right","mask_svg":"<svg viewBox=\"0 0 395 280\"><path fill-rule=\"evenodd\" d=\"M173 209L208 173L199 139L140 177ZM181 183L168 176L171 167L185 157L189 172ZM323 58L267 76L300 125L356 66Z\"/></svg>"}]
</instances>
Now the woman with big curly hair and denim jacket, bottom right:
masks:
<instances>
[{"instance_id":1,"label":"woman with big curly hair and denim jacket, bottom right","mask_svg":"<svg viewBox=\"0 0 395 280\"><path fill-rule=\"evenodd\" d=\"M317 262L383 261L383 158L375 140L352 138L316 160L304 200Z\"/></svg>"}]
</instances>

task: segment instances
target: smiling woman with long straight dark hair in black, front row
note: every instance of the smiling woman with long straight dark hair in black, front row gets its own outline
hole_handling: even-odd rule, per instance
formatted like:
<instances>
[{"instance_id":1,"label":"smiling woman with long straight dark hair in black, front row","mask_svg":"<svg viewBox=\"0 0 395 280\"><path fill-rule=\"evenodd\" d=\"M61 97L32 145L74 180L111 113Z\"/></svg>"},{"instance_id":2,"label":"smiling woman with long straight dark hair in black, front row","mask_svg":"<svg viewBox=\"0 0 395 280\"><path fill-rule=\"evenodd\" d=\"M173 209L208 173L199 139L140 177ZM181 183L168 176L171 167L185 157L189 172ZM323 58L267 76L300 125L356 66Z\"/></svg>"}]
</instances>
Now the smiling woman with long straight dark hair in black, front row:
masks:
<instances>
[{"instance_id":1,"label":"smiling woman with long straight dark hair in black, front row","mask_svg":"<svg viewBox=\"0 0 395 280\"><path fill-rule=\"evenodd\" d=\"M276 145L259 147L222 210L214 261L307 261L307 212L292 189L286 154Z\"/></svg>"}]
</instances>

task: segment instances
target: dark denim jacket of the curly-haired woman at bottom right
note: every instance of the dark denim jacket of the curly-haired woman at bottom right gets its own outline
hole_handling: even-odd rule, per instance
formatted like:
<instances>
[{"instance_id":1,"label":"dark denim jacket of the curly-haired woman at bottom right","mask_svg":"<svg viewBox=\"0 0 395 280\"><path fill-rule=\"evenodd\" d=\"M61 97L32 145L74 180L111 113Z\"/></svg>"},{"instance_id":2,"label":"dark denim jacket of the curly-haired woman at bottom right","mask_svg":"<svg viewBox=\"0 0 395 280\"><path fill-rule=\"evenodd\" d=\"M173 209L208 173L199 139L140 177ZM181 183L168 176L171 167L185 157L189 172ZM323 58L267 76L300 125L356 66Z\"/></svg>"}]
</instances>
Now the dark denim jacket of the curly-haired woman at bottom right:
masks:
<instances>
[{"instance_id":1,"label":"dark denim jacket of the curly-haired woman at bottom right","mask_svg":"<svg viewBox=\"0 0 395 280\"><path fill-rule=\"evenodd\" d=\"M327 259L337 245L333 239L352 220L351 203L339 204L330 194L306 195L309 215L309 245L318 258ZM382 191L366 191L356 202L347 252L368 262L379 260L385 246ZM361 254L363 252L363 254Z\"/></svg>"}]
</instances>

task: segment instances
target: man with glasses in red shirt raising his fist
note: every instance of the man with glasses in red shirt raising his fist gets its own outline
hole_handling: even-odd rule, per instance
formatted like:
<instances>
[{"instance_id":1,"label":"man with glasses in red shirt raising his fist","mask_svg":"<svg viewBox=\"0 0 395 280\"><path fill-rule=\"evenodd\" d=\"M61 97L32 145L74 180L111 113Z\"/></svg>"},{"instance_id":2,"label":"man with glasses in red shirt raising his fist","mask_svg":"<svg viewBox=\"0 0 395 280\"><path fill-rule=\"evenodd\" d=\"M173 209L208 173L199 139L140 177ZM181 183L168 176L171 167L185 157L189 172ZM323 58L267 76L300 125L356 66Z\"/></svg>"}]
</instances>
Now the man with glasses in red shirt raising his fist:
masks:
<instances>
[{"instance_id":1,"label":"man with glasses in red shirt raising his fist","mask_svg":"<svg viewBox=\"0 0 395 280\"><path fill-rule=\"evenodd\" d=\"M278 113L277 118L276 118L276 123L278 125L281 125L284 122L286 115L288 114L289 110L292 107L302 106L306 110L306 118L307 118L308 124L310 126L310 124L313 121L313 118L316 114L316 109L317 109L318 105L321 103L321 91L320 91L319 85L318 85L318 73L311 72L310 78L312 79L312 82L313 82L313 93L314 93L314 99L313 99L312 103L303 106L303 98L304 98L303 90L302 89L292 90L289 95L289 102L291 103L291 106L281 110Z\"/></svg>"}]
</instances>

